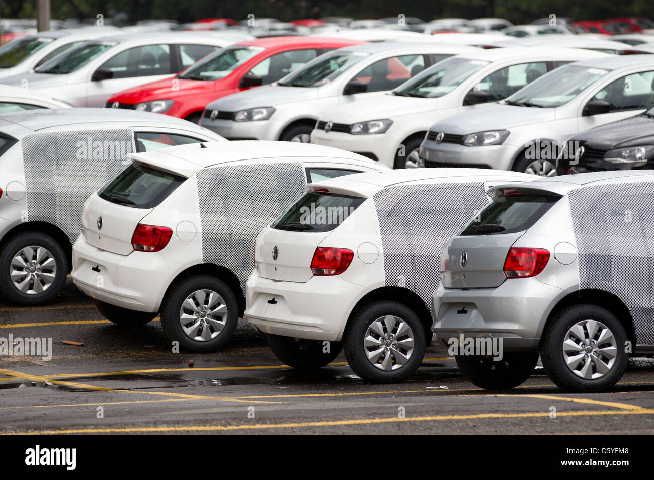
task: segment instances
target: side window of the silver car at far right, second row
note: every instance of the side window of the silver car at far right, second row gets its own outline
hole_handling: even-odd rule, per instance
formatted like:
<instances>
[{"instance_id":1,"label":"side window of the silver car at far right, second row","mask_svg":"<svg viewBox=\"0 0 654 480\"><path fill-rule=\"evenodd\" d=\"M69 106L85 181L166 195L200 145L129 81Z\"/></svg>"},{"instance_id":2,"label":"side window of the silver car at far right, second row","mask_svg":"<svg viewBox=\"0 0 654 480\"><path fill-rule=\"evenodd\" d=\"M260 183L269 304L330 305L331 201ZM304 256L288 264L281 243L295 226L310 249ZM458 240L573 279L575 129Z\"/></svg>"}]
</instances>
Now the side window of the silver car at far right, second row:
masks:
<instances>
[{"instance_id":1,"label":"side window of the silver car at far right, second row","mask_svg":"<svg viewBox=\"0 0 654 480\"><path fill-rule=\"evenodd\" d=\"M632 73L614 80L602 88L591 100L604 100L610 112L647 109L654 106L654 71Z\"/></svg>"}]
</instances>

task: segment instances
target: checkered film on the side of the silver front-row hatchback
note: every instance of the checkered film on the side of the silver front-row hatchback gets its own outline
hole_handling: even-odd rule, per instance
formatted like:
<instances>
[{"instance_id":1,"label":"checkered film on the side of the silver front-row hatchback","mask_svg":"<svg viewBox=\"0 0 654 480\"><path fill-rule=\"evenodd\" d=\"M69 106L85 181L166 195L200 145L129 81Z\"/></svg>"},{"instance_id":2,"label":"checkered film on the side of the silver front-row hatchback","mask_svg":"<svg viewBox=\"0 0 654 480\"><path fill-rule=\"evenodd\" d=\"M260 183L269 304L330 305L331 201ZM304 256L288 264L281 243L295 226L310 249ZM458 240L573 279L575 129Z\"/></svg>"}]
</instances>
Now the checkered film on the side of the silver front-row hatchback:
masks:
<instances>
[{"instance_id":1,"label":"checkered film on the side of the silver front-row hatchback","mask_svg":"<svg viewBox=\"0 0 654 480\"><path fill-rule=\"evenodd\" d=\"M637 345L654 345L654 183L587 186L568 195L579 287L610 292L634 320Z\"/></svg>"}]
</instances>

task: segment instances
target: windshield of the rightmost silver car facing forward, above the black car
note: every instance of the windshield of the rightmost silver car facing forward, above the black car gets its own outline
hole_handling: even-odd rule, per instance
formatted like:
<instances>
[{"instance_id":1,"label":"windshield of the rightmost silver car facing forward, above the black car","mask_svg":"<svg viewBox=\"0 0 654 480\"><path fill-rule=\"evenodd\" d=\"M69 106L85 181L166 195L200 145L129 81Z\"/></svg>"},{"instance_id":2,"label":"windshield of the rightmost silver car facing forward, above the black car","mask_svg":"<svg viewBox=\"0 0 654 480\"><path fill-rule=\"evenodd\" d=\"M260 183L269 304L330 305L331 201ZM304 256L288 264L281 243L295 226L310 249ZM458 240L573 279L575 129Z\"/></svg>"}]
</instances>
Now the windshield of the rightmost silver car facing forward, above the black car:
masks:
<instances>
[{"instance_id":1,"label":"windshield of the rightmost silver car facing forward, above the black car","mask_svg":"<svg viewBox=\"0 0 654 480\"><path fill-rule=\"evenodd\" d=\"M506 103L526 107L560 107L607 73L608 70L564 65L515 92L506 99Z\"/></svg>"}]
</instances>

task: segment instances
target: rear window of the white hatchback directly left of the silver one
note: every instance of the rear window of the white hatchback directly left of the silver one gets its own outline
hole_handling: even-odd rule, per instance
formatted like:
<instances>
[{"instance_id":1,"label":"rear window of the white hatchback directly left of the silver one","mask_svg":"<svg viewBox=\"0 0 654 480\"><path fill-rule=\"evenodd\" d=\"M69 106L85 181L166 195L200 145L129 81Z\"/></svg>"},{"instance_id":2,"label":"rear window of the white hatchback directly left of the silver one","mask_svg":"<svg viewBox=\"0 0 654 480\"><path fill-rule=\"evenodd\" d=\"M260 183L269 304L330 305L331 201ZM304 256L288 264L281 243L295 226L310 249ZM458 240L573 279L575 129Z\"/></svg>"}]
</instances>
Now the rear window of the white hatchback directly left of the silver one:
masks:
<instances>
[{"instance_id":1,"label":"rear window of the white hatchback directly left of the silver one","mask_svg":"<svg viewBox=\"0 0 654 480\"><path fill-rule=\"evenodd\" d=\"M362 197L309 192L273 223L276 230L332 231L366 201Z\"/></svg>"}]
</instances>

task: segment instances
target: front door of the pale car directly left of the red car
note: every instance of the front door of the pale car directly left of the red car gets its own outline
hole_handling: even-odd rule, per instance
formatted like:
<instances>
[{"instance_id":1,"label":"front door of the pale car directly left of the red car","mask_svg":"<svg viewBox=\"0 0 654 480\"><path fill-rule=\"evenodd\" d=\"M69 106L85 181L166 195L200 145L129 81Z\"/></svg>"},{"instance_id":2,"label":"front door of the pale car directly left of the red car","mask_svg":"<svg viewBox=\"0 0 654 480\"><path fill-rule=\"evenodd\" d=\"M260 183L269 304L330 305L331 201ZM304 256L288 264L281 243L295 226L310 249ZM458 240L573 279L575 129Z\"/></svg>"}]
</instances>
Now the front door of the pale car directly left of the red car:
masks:
<instances>
[{"instance_id":1,"label":"front door of the pale car directly left of the red car","mask_svg":"<svg viewBox=\"0 0 654 480\"><path fill-rule=\"evenodd\" d=\"M104 107L107 98L116 92L176 73L171 50L169 44L150 44L114 54L90 74L86 82L86 107ZM109 78L101 80L101 75Z\"/></svg>"}]
</instances>

